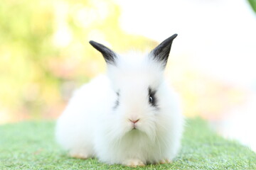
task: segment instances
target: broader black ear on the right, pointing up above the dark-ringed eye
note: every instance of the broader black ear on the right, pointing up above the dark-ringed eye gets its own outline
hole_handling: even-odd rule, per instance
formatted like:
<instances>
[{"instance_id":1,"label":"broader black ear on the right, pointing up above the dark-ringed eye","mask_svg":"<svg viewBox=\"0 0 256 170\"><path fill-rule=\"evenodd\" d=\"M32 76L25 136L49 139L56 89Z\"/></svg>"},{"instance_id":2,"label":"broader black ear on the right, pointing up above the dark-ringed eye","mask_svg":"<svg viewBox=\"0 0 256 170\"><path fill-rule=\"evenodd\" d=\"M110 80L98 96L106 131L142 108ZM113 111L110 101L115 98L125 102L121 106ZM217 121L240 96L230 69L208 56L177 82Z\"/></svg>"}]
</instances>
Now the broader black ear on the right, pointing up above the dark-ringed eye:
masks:
<instances>
[{"instance_id":1,"label":"broader black ear on the right, pointing up above the dark-ringed eye","mask_svg":"<svg viewBox=\"0 0 256 170\"><path fill-rule=\"evenodd\" d=\"M176 38L177 34L172 35L171 37L167 38L160 45L158 45L154 50L152 50L151 57L157 62L161 62L166 67L166 63L169 57L169 53L171 50L171 43L173 42L174 38Z\"/></svg>"}]
</instances>

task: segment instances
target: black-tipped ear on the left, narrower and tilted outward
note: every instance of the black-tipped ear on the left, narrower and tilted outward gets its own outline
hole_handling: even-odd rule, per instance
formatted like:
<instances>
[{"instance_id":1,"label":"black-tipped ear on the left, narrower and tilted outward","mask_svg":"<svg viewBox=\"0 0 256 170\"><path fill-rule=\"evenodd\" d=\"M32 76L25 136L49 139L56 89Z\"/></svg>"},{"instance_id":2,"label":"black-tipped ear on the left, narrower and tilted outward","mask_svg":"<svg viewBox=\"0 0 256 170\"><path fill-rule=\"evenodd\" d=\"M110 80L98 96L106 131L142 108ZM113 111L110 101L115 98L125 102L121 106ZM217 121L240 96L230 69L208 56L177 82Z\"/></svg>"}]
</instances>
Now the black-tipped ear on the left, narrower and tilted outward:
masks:
<instances>
[{"instance_id":1,"label":"black-tipped ear on the left, narrower and tilted outward","mask_svg":"<svg viewBox=\"0 0 256 170\"><path fill-rule=\"evenodd\" d=\"M92 47L95 47L96 50L98 50L99 52L102 53L107 64L115 64L117 55L112 50L110 50L108 47L105 47L104 45L102 45L98 42L92 41L92 40L89 43L90 43L90 45L92 45Z\"/></svg>"}]
</instances>

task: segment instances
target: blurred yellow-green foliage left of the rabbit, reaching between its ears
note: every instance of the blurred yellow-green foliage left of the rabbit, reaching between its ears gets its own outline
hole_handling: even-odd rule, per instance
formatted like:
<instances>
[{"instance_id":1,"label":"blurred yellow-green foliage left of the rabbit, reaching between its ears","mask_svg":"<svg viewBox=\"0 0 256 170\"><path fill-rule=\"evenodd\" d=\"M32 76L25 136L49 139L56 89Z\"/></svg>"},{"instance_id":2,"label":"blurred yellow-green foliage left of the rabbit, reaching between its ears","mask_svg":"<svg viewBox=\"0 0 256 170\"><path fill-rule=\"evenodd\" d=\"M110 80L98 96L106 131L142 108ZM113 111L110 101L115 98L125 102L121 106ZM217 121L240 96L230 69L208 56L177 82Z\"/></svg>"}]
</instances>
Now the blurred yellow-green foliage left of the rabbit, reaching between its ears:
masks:
<instances>
[{"instance_id":1,"label":"blurred yellow-green foliage left of the rabbit, reaching between its ears","mask_svg":"<svg viewBox=\"0 0 256 170\"><path fill-rule=\"evenodd\" d=\"M0 123L58 115L70 91L105 67L89 40L119 52L156 45L124 33L119 16L112 1L1 1Z\"/></svg>"}]
</instances>

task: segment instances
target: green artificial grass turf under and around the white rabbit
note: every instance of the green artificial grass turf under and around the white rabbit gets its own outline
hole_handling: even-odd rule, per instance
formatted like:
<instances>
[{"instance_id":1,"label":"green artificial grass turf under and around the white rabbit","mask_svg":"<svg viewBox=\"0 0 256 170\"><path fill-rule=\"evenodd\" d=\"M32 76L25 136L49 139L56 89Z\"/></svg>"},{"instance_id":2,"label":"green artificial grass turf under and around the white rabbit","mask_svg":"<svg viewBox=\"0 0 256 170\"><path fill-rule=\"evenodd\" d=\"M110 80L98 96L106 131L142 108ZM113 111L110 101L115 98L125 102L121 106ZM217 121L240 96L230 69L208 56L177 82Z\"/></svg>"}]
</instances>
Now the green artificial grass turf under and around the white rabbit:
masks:
<instances>
[{"instance_id":1,"label":"green artificial grass turf under and around the white rabbit","mask_svg":"<svg viewBox=\"0 0 256 170\"><path fill-rule=\"evenodd\" d=\"M187 120L181 152L171 164L136 169L256 169L256 154L225 140L200 119ZM0 169L134 169L97 159L68 157L55 143L54 122L23 122L0 126Z\"/></svg>"}]
</instances>

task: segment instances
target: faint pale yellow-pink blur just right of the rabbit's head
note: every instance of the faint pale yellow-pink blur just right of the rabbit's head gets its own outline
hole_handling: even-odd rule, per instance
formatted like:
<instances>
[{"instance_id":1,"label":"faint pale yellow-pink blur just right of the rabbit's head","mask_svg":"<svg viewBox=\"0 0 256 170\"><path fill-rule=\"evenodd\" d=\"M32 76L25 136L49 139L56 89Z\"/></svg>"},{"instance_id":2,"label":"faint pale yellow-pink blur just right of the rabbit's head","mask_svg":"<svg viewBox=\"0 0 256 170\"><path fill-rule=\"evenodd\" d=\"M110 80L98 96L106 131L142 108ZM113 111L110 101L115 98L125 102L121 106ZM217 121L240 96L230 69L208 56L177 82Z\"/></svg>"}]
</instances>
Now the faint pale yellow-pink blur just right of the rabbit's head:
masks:
<instances>
[{"instance_id":1,"label":"faint pale yellow-pink blur just right of the rabbit's head","mask_svg":"<svg viewBox=\"0 0 256 170\"><path fill-rule=\"evenodd\" d=\"M190 58L193 60L193 57ZM219 120L245 103L250 91L209 77L191 63L187 55L181 55L171 60L167 70L182 98L184 115Z\"/></svg>"}]
</instances>

